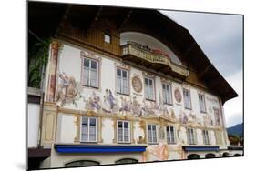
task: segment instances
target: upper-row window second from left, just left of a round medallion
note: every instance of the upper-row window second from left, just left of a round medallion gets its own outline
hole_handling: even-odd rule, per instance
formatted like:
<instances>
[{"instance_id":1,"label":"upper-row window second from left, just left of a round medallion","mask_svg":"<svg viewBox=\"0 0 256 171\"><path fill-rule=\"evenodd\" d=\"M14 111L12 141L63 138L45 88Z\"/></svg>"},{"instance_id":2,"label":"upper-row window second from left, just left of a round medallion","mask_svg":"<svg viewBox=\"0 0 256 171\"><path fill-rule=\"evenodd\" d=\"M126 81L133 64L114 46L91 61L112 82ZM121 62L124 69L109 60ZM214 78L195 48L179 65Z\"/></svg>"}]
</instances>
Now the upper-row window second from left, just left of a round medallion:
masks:
<instances>
[{"instance_id":1,"label":"upper-row window second from left, just left of a round medallion","mask_svg":"<svg viewBox=\"0 0 256 171\"><path fill-rule=\"evenodd\" d=\"M128 71L117 68L117 92L128 95Z\"/></svg>"}]
</instances>

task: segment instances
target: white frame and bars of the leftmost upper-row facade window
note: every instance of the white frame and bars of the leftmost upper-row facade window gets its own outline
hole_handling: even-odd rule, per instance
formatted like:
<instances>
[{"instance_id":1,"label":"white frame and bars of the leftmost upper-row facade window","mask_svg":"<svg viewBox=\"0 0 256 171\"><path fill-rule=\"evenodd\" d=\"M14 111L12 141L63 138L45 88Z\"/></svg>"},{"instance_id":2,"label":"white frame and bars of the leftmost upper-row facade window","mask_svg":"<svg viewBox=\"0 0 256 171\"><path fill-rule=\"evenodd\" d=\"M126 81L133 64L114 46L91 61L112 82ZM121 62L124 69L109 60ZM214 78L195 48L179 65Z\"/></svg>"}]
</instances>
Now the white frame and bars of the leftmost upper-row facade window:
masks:
<instances>
[{"instance_id":1,"label":"white frame and bars of the leftmost upper-row facade window","mask_svg":"<svg viewBox=\"0 0 256 171\"><path fill-rule=\"evenodd\" d=\"M86 66L85 66L85 60L89 60L89 67L88 67L88 72L89 72L89 77L88 77L88 84L85 82L85 75L86 75ZM97 64L97 70L96 70L96 86L91 85L91 63L92 61L96 62ZM83 67L82 67L82 85L88 86L88 87L93 87L93 88L98 88L98 76L99 76L99 62L97 59L92 59L90 57L83 57Z\"/></svg>"}]
</instances>

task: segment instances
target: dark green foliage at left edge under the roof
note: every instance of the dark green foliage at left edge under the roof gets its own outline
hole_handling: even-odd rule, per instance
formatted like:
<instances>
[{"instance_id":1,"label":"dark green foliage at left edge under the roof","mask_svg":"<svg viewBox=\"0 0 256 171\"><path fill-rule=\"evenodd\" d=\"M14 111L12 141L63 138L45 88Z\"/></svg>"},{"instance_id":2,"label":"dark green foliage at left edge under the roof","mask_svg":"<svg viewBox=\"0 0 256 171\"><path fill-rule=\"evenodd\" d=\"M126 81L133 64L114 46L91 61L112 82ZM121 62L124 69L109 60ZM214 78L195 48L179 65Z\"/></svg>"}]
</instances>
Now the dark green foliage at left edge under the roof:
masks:
<instances>
[{"instance_id":1,"label":"dark green foliage at left edge under the roof","mask_svg":"<svg viewBox=\"0 0 256 171\"><path fill-rule=\"evenodd\" d=\"M28 86L40 88L42 69L46 67L50 39L33 44L28 49Z\"/></svg>"}]
</instances>

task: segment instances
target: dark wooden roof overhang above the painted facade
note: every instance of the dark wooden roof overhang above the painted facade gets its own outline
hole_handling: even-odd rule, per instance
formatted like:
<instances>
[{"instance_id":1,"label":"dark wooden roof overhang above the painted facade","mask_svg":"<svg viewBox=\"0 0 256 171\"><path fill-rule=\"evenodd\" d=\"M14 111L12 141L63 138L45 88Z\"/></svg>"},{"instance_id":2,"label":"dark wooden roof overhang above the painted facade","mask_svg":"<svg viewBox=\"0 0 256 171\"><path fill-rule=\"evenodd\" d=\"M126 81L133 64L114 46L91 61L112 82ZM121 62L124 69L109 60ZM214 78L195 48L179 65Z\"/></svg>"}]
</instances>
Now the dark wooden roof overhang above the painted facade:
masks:
<instances>
[{"instance_id":1,"label":"dark wooden roof overhang above the painted facade","mask_svg":"<svg viewBox=\"0 0 256 171\"><path fill-rule=\"evenodd\" d=\"M200 80L210 92L220 96L222 104L238 96L235 90L210 63L189 30L161 14L158 10L100 5L72 5L28 2L28 29L39 36L57 36L57 28L69 17L73 25L87 32L98 14L108 17L122 32L137 31L151 35L169 48L181 61L191 64L200 73ZM227 64L228 65L228 64Z\"/></svg>"}]
</instances>

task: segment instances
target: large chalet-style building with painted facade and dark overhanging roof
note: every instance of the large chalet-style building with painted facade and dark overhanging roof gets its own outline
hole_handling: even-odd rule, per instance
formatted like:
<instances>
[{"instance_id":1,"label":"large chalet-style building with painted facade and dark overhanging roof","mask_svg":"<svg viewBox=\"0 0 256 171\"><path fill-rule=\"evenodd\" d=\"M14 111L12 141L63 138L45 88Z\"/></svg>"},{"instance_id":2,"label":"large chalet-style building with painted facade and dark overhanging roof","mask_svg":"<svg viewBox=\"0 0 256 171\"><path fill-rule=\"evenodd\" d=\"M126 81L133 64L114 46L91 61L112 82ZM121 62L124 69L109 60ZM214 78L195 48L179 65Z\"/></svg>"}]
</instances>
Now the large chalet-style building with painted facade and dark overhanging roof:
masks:
<instances>
[{"instance_id":1,"label":"large chalet-style building with painted facade and dark overhanging roof","mask_svg":"<svg viewBox=\"0 0 256 171\"><path fill-rule=\"evenodd\" d=\"M184 27L151 9L28 10L29 29L49 37L28 89L29 169L243 156L223 109L238 94Z\"/></svg>"}]
</instances>

